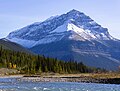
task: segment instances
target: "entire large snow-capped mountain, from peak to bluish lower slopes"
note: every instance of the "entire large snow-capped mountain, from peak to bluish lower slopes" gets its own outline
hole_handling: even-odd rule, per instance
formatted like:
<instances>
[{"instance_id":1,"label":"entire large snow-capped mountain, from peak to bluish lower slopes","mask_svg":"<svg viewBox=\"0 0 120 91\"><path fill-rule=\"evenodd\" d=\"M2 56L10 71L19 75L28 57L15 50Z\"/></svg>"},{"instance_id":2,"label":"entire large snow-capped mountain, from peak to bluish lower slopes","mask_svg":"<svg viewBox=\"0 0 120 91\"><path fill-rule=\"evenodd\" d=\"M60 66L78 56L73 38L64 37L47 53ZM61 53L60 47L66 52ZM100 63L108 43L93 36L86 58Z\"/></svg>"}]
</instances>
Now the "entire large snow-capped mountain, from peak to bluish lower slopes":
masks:
<instances>
[{"instance_id":1,"label":"entire large snow-capped mountain, from peak to bluish lower slopes","mask_svg":"<svg viewBox=\"0 0 120 91\"><path fill-rule=\"evenodd\" d=\"M7 39L61 60L83 61L106 69L117 69L120 65L120 41L77 10L11 32Z\"/></svg>"}]
</instances>

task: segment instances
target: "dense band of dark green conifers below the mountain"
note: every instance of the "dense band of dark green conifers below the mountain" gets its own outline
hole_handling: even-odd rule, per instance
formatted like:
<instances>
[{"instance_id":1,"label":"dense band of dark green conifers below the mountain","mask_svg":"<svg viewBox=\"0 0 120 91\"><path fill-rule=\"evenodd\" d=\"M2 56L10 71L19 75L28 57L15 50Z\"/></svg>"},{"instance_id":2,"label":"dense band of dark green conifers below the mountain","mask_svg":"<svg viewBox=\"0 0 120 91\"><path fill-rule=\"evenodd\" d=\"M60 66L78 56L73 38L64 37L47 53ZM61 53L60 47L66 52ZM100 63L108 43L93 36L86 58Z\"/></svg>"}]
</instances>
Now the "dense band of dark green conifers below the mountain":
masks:
<instances>
[{"instance_id":1,"label":"dense band of dark green conifers below the mountain","mask_svg":"<svg viewBox=\"0 0 120 91\"><path fill-rule=\"evenodd\" d=\"M82 62L60 61L40 55L26 54L3 49L0 47L0 67L18 69L20 73L40 74L42 72L54 73L88 73L104 71L98 68L90 68Z\"/></svg>"}]
</instances>

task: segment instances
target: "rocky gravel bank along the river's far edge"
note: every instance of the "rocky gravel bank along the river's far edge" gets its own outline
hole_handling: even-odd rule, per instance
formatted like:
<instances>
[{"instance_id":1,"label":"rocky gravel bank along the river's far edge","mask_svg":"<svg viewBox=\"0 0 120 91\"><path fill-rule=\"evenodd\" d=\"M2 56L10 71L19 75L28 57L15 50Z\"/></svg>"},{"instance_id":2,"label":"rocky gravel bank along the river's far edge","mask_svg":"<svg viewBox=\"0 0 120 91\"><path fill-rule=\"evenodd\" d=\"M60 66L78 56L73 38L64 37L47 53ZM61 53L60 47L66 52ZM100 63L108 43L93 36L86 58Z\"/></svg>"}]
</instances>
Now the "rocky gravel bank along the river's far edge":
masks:
<instances>
[{"instance_id":1,"label":"rocky gravel bank along the river's far edge","mask_svg":"<svg viewBox=\"0 0 120 91\"><path fill-rule=\"evenodd\" d=\"M92 77L40 77L23 76L17 78L20 82L82 82L82 83L102 83L102 84L120 84L120 78L92 78Z\"/></svg>"}]
</instances>

